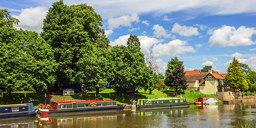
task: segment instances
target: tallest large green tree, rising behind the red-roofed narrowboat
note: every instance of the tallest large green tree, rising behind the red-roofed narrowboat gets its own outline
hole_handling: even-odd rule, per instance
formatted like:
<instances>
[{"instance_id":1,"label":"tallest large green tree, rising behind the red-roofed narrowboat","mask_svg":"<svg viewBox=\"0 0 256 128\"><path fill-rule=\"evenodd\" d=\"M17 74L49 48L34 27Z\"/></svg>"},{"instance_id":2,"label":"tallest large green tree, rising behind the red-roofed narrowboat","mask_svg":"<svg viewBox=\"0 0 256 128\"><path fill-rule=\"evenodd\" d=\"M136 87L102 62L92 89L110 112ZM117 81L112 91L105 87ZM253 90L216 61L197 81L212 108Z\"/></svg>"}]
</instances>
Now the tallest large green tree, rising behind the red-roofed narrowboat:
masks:
<instances>
[{"instance_id":1,"label":"tallest large green tree, rising behind the red-roofed narrowboat","mask_svg":"<svg viewBox=\"0 0 256 128\"><path fill-rule=\"evenodd\" d=\"M77 65L82 63L79 59L84 60L84 56L81 55L84 52L81 51L84 50L82 47L87 44L100 49L109 47L108 38L100 28L102 18L91 6L86 4L67 6L60 0L49 8L43 24L41 36L51 45L58 64L55 87L75 85L77 90L81 82L75 79L77 73L83 70L80 69L81 65L79 67Z\"/></svg>"}]
</instances>

